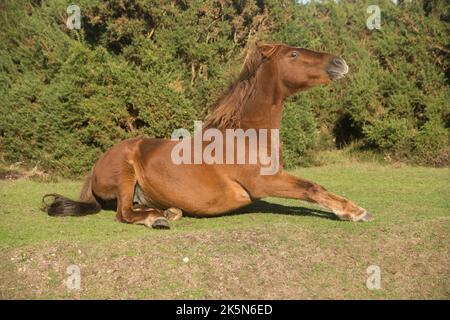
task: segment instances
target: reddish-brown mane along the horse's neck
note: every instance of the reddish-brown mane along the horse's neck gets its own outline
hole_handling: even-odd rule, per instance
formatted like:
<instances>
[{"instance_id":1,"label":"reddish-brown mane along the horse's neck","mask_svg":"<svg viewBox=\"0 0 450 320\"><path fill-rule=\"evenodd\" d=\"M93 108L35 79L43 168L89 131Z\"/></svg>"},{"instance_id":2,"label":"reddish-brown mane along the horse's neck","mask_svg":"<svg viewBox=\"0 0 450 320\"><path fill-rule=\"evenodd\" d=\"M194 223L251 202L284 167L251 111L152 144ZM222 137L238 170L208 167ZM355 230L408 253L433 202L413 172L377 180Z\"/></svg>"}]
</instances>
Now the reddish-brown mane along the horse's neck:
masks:
<instances>
[{"instance_id":1,"label":"reddish-brown mane along the horse's neck","mask_svg":"<svg viewBox=\"0 0 450 320\"><path fill-rule=\"evenodd\" d=\"M237 80L230 85L216 103L212 112L205 119L205 128L238 128L245 103L251 99L256 89L256 72L261 64L270 57L263 55L258 46L249 49Z\"/></svg>"}]
</instances>

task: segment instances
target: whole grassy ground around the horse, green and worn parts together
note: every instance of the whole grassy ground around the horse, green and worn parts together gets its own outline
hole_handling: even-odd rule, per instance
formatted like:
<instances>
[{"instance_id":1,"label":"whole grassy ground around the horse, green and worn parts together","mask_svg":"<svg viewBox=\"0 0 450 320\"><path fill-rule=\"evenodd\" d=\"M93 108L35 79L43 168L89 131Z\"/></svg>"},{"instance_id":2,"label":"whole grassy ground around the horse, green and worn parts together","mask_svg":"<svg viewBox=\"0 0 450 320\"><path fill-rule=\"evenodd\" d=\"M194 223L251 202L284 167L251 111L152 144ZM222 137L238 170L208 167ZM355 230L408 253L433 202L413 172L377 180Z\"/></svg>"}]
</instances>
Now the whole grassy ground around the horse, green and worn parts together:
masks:
<instances>
[{"instance_id":1,"label":"whole grassy ground around the horse, green and worn parts together","mask_svg":"<svg viewBox=\"0 0 450 320\"><path fill-rule=\"evenodd\" d=\"M152 230L115 222L111 211L39 211L42 194L76 197L80 181L0 181L0 298L449 299L448 168L343 162L294 174L352 199L374 221L266 199ZM79 291L65 285L71 264ZM381 270L379 290L366 286L371 265Z\"/></svg>"}]
</instances>

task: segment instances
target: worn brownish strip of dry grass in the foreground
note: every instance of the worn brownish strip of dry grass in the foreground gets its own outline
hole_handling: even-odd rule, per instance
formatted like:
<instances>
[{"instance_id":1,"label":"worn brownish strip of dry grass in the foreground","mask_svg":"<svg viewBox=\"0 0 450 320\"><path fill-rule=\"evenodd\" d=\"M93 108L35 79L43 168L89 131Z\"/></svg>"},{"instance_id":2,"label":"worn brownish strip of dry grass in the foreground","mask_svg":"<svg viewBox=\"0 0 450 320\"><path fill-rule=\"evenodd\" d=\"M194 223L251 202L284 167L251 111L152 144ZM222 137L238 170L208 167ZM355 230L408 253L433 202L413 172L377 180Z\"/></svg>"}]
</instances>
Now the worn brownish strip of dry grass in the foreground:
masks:
<instances>
[{"instance_id":1,"label":"worn brownish strip of dry grass in the foreground","mask_svg":"<svg viewBox=\"0 0 450 320\"><path fill-rule=\"evenodd\" d=\"M0 297L448 299L449 234L447 220L360 232L278 224L31 245L3 251ZM65 285L71 264L80 291ZM366 287L370 265L381 268L380 290Z\"/></svg>"}]
</instances>

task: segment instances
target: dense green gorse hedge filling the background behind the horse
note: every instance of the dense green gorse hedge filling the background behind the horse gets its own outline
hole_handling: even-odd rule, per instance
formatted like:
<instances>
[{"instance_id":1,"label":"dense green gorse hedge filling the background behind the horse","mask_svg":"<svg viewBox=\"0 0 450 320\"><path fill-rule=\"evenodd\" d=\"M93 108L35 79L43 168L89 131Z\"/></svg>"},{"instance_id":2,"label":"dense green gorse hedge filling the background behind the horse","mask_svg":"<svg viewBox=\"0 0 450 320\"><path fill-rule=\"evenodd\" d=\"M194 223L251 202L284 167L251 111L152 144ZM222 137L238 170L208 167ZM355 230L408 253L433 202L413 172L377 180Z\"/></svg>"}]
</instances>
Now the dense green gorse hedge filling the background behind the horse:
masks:
<instances>
[{"instance_id":1,"label":"dense green gorse hedge filling the background behind the horse","mask_svg":"<svg viewBox=\"0 0 450 320\"><path fill-rule=\"evenodd\" d=\"M87 172L129 137L191 129L255 40L342 56L346 80L289 99L286 165L350 142L395 160L449 163L445 1L69 1L0 3L0 155L62 175ZM381 8L369 30L366 9Z\"/></svg>"}]
</instances>

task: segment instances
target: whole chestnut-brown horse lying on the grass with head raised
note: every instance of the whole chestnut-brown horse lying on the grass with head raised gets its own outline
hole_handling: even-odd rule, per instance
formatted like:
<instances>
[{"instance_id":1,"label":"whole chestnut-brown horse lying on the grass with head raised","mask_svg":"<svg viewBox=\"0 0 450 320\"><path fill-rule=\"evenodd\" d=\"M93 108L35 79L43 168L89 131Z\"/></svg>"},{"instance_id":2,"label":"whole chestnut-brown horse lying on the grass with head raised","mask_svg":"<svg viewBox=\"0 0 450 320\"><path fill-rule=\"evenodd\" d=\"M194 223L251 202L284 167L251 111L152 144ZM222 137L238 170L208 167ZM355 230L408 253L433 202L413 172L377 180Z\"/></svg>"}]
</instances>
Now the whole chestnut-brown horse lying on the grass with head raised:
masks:
<instances>
[{"instance_id":1,"label":"whole chestnut-brown horse lying on the grass with head raised","mask_svg":"<svg viewBox=\"0 0 450 320\"><path fill-rule=\"evenodd\" d=\"M197 134L210 128L221 133L229 129L278 129L287 97L341 79L347 72L343 59L327 53L284 44L257 44L247 54L238 79L218 100ZM188 141L194 145L194 140ZM245 141L245 150L255 151ZM369 220L363 208L314 182L288 174L282 166L275 174L261 174L259 157L256 163L174 163L172 151L179 143L144 137L125 140L100 157L86 178L79 201L45 195L44 199L54 198L45 204L45 210L52 216L85 215L114 201L120 222L169 228L168 220L179 219L182 214L218 216L270 196L313 202L343 220ZM260 149L281 156L272 146L269 142ZM206 147L203 141L200 152ZM223 149L225 154L233 151L236 146Z\"/></svg>"}]
</instances>

